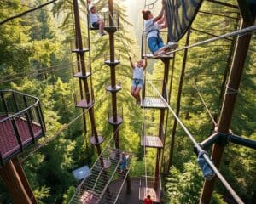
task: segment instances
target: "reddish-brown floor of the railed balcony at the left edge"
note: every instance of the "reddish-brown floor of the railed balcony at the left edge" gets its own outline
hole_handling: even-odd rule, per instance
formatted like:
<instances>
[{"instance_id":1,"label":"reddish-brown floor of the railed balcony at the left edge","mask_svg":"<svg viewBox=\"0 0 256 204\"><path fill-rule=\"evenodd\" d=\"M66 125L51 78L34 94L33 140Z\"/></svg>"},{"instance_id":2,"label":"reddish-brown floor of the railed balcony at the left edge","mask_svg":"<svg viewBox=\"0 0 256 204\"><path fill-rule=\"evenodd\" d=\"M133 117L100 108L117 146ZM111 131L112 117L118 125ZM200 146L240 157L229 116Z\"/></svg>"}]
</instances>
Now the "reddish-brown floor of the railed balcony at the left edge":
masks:
<instances>
[{"instance_id":1,"label":"reddish-brown floor of the railed balcony at the left edge","mask_svg":"<svg viewBox=\"0 0 256 204\"><path fill-rule=\"evenodd\" d=\"M0 121L7 116L0 116ZM29 131L28 124L24 118L15 117L15 124L19 133L23 148L33 142L33 139L39 139L44 136L44 131L39 124L32 122L32 133ZM9 120L0 122L0 152L3 161L11 159L21 151L21 145L16 138L12 123Z\"/></svg>"}]
</instances>

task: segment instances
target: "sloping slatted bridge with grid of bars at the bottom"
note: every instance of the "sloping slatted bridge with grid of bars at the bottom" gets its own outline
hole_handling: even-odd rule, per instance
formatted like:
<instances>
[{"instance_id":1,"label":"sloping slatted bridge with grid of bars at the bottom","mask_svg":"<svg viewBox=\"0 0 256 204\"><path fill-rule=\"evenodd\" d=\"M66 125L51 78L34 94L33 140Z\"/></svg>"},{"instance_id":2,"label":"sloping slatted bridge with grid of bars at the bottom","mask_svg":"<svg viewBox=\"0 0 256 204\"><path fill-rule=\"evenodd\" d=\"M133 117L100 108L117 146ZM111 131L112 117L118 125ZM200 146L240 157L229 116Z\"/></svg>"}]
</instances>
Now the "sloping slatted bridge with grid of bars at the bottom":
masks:
<instances>
[{"instance_id":1,"label":"sloping slatted bridge with grid of bars at the bottom","mask_svg":"<svg viewBox=\"0 0 256 204\"><path fill-rule=\"evenodd\" d=\"M122 153L125 153L129 158L127 160L127 169L120 173L119 166L122 161ZM91 175L79 184L75 195L73 195L69 203L115 203L130 171L131 160L132 155L130 152L106 147L91 167ZM108 161L108 165L105 165L106 161ZM119 190L110 192L108 185L113 179L117 178L120 181Z\"/></svg>"}]
</instances>

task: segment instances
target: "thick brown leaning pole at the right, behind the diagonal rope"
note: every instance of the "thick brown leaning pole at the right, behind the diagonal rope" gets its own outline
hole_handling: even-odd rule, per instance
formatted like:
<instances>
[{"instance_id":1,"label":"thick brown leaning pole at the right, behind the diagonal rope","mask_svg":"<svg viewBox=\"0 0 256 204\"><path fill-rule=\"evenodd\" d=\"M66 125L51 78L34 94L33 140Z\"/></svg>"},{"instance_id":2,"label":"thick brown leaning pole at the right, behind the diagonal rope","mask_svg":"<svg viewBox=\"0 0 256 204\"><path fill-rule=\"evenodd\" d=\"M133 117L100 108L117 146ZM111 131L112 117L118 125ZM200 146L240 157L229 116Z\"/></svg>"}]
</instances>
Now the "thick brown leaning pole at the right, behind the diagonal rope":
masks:
<instances>
[{"instance_id":1,"label":"thick brown leaning pole at the right, behind the diagonal rope","mask_svg":"<svg viewBox=\"0 0 256 204\"><path fill-rule=\"evenodd\" d=\"M248 26L253 26L254 20L250 22L241 22L241 29ZM233 62L231 65L230 79L227 84L227 89L224 95L224 103L222 105L222 110L220 118L218 121L218 132L228 134L230 128L230 122L232 119L232 114L234 111L236 103L236 95L241 82L241 74L243 67L245 65L245 60L247 57L247 51L249 48L249 43L251 41L251 33L246 33L238 37L236 42L235 53L233 57ZM223 144L214 144L212 147L212 160L214 161L215 167L220 167L221 157L224 152ZM212 178L210 181L205 181L203 190L201 193L201 204L208 204L212 198L212 192L214 190L214 185L216 182L216 177Z\"/></svg>"}]
</instances>

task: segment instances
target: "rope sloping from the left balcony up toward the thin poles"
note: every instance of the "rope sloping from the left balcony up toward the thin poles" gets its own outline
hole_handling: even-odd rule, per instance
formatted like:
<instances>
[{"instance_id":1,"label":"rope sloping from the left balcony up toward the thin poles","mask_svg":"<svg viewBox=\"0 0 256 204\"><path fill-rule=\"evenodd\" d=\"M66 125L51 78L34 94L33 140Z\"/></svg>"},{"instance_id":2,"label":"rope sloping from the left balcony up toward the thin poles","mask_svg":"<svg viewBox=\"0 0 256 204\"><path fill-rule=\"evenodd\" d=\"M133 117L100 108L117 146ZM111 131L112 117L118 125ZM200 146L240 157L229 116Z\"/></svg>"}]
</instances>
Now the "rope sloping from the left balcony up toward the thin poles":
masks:
<instances>
[{"instance_id":1,"label":"rope sloping from the left balcony up toward the thin poles","mask_svg":"<svg viewBox=\"0 0 256 204\"><path fill-rule=\"evenodd\" d=\"M64 125L63 127L61 127L60 130L58 130L51 138L46 139L46 141L44 141L44 143L39 144L37 147L33 148L33 150L28 150L29 154L27 156L25 156L24 158L22 158L22 160L20 160L20 162L26 161L26 159L29 156L32 156L32 154L34 152L36 152L37 150L39 150L41 147L45 146L46 144L48 144L50 141L52 141L53 139L55 139L55 137L57 137L60 133L62 133L64 130L67 130L68 127L70 127L73 122L76 122L80 116L83 116L84 113L88 112L92 107L94 107L99 101L102 101L103 99L106 98L106 95L103 95L101 99L98 99L93 105L91 105L88 109L86 109L85 111L83 111L82 113L79 114L79 116L76 116L75 118L73 118L73 120L71 122L68 122L66 125ZM26 151L24 151L23 153L25 153Z\"/></svg>"}]
</instances>

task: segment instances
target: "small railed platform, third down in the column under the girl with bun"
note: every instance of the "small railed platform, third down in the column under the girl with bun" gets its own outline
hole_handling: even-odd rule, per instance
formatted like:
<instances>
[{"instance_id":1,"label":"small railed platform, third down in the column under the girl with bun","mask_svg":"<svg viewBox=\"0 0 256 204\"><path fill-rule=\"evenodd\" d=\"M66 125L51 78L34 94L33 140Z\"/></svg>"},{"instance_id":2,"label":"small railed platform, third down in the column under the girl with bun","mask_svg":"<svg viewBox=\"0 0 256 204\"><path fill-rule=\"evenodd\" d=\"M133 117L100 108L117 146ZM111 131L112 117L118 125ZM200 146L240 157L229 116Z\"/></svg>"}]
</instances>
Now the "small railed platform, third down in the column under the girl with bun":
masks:
<instances>
[{"instance_id":1,"label":"small railed platform, third down in the column under the girl with bun","mask_svg":"<svg viewBox=\"0 0 256 204\"><path fill-rule=\"evenodd\" d=\"M159 123L143 123L141 145L145 147L163 148L164 129Z\"/></svg>"}]
</instances>

